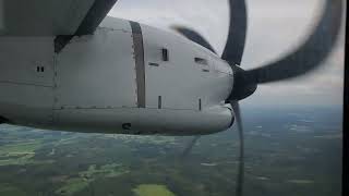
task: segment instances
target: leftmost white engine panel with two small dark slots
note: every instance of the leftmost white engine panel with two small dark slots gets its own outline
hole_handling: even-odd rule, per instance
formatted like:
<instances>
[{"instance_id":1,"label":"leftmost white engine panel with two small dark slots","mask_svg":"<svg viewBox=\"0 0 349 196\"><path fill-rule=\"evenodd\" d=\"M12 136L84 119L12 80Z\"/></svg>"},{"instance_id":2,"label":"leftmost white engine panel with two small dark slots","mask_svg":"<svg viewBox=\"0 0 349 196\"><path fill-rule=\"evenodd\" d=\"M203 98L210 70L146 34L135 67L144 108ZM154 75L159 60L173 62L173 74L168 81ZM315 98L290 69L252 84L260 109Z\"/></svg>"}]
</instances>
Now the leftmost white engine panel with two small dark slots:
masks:
<instances>
[{"instance_id":1,"label":"leftmost white engine panel with two small dark slots","mask_svg":"<svg viewBox=\"0 0 349 196\"><path fill-rule=\"evenodd\" d=\"M24 125L51 123L52 44L52 37L0 37L1 117Z\"/></svg>"}]
</instances>

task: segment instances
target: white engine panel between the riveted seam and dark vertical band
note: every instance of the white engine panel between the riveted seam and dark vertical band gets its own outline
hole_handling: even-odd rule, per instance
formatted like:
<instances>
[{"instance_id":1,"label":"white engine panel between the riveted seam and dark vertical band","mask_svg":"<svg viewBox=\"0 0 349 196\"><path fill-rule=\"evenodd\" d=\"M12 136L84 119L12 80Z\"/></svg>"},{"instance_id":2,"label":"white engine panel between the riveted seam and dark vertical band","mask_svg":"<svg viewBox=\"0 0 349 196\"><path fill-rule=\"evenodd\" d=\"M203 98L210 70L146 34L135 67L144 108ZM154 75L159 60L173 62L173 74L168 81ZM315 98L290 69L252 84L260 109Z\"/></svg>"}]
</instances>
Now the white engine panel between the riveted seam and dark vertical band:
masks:
<instances>
[{"instance_id":1,"label":"white engine panel between the riveted seam and dark vertical band","mask_svg":"<svg viewBox=\"0 0 349 196\"><path fill-rule=\"evenodd\" d=\"M136 107L132 42L109 28L75 37L57 56L56 109Z\"/></svg>"}]
</instances>

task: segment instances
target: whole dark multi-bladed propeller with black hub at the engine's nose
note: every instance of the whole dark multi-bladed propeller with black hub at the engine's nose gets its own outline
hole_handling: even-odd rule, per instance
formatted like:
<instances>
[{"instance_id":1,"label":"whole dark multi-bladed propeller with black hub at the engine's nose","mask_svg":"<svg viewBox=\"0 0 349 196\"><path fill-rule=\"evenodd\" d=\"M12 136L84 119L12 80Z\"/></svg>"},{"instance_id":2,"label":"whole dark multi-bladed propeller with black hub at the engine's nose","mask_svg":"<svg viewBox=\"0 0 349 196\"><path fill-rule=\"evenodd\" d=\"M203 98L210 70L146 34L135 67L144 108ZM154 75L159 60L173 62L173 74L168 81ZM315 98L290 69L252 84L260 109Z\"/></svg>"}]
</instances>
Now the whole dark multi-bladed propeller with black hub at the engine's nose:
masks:
<instances>
[{"instance_id":1,"label":"whole dark multi-bladed propeller with black hub at the engine's nose","mask_svg":"<svg viewBox=\"0 0 349 196\"><path fill-rule=\"evenodd\" d=\"M314 26L312 33L303 44L274 62L245 71L240 68L240 64L244 52L248 32L246 3L245 0L229 0L229 34L221 59L229 63L234 76L233 88L230 96L226 99L226 102L230 103L234 111L239 131L240 157L237 186L238 196L242 195L243 192L244 175L243 126L239 100L251 96L256 90L258 84L298 77L318 68L332 52L336 40L338 39L341 26L342 5L342 0L326 0L324 11L317 25ZM177 27L177 32L190 40L214 51L205 38L195 30L186 27ZM191 149L193 145L194 144L192 144L189 149Z\"/></svg>"}]
</instances>

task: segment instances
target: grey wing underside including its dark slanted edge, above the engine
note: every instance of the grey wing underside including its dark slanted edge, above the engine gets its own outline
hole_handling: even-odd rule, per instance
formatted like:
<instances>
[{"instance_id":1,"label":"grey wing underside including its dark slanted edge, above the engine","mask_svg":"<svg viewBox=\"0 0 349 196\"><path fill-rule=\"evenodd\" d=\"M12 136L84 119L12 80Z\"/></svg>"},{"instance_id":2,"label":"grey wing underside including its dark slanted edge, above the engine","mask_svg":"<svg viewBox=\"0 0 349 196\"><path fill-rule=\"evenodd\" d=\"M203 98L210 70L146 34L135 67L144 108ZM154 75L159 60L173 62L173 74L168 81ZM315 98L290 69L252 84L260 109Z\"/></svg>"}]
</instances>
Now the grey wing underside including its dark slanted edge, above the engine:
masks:
<instances>
[{"instance_id":1,"label":"grey wing underside including its dark slanted edge, above the engine","mask_svg":"<svg viewBox=\"0 0 349 196\"><path fill-rule=\"evenodd\" d=\"M0 36L94 33L117 0L0 0Z\"/></svg>"}]
</instances>

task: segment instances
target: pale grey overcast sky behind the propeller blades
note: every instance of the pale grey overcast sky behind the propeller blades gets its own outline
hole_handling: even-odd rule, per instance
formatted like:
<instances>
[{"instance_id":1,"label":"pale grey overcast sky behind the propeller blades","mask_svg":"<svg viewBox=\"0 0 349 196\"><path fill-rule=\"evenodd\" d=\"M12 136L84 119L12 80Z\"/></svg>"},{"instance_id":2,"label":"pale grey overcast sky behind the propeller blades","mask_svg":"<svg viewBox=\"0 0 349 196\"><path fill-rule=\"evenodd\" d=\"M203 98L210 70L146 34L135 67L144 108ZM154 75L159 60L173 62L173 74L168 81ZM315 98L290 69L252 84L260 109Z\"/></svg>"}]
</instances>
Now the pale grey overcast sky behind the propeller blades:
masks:
<instances>
[{"instance_id":1,"label":"pale grey overcast sky behind the propeller blades","mask_svg":"<svg viewBox=\"0 0 349 196\"><path fill-rule=\"evenodd\" d=\"M273 61L297 47L310 33L324 1L248 0L249 32L242 65L251 69ZM227 0L119 0L109 13L169 30L190 26L207 38L218 53L228 34ZM245 105L340 105L344 86L345 28L335 51L315 72L296 79L260 85Z\"/></svg>"}]
</instances>

